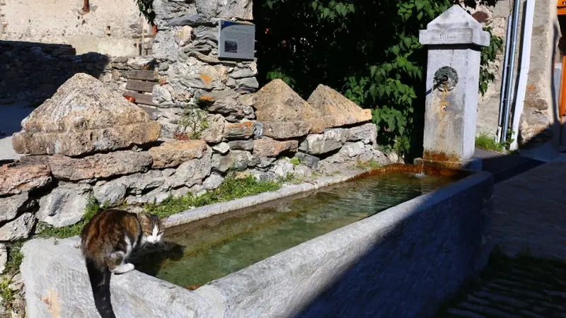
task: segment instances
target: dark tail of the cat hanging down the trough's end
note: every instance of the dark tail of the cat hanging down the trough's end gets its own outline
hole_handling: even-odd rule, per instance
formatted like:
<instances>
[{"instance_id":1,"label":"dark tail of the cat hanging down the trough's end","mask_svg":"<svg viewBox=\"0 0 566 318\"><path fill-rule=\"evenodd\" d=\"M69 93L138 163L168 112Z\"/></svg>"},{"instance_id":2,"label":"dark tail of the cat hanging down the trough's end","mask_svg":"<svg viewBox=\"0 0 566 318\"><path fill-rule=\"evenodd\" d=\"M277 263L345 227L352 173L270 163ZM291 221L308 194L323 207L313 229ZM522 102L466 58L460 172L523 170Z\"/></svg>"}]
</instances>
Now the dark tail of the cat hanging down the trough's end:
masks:
<instances>
[{"instance_id":1,"label":"dark tail of the cat hanging down the trough's end","mask_svg":"<svg viewBox=\"0 0 566 318\"><path fill-rule=\"evenodd\" d=\"M116 318L110 302L110 276L106 269L99 269L91 260L86 258L86 271L93 289L94 305L102 318Z\"/></svg>"}]
</instances>

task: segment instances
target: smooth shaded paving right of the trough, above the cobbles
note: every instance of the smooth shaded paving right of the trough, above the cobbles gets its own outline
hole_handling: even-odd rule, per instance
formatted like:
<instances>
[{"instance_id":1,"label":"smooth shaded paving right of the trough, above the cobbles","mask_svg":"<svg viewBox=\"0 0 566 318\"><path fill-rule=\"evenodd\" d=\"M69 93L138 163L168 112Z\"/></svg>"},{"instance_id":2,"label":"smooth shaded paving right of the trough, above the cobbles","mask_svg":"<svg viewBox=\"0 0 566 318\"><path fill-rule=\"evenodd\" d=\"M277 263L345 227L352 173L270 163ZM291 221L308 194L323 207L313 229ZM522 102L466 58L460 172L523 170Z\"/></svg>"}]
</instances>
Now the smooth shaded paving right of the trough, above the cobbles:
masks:
<instances>
[{"instance_id":1,"label":"smooth shaded paving right of the trough, above the cobbles","mask_svg":"<svg viewBox=\"0 0 566 318\"><path fill-rule=\"evenodd\" d=\"M535 167L495 185L493 239L516 255L566 260L566 162Z\"/></svg>"}]
</instances>

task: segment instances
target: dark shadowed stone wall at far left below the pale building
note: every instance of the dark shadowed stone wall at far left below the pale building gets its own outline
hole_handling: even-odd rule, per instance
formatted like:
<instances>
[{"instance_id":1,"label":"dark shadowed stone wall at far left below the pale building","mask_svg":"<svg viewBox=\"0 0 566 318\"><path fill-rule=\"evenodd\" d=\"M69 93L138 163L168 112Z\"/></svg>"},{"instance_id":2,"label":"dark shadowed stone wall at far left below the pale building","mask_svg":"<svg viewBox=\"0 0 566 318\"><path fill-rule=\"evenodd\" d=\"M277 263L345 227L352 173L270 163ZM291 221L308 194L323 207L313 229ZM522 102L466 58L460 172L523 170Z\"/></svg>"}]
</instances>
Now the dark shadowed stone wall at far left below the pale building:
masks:
<instances>
[{"instance_id":1,"label":"dark shadowed stone wall at far left below the pale building","mask_svg":"<svg viewBox=\"0 0 566 318\"><path fill-rule=\"evenodd\" d=\"M40 105L75 73L100 78L110 57L71 45L0 41L0 105Z\"/></svg>"}]
</instances>

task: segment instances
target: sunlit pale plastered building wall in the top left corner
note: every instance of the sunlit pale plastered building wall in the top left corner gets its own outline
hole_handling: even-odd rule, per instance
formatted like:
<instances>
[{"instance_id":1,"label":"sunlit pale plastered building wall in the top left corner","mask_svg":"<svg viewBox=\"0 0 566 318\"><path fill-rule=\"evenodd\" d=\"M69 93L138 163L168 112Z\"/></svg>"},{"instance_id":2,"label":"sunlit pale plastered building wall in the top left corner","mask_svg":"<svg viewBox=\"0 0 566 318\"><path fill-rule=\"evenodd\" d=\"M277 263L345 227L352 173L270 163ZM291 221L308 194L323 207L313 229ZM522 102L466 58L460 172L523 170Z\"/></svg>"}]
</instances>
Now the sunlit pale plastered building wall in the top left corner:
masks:
<instances>
[{"instance_id":1,"label":"sunlit pale plastered building wall in the top left corner","mask_svg":"<svg viewBox=\"0 0 566 318\"><path fill-rule=\"evenodd\" d=\"M113 57L134 56L137 39L151 28L133 0L0 1L0 40L66 44L79 54L98 52ZM151 42L152 39L147 39Z\"/></svg>"}]
</instances>

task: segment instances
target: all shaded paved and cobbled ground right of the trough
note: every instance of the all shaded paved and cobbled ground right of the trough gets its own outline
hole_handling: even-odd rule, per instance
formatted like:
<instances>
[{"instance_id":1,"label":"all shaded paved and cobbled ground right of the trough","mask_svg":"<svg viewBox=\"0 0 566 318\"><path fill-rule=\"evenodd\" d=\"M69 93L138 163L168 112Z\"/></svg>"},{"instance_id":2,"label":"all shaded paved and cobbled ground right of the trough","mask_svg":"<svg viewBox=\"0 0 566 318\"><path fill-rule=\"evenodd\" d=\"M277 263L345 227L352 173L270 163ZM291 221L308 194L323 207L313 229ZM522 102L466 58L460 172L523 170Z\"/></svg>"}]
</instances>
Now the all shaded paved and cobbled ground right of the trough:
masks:
<instances>
[{"instance_id":1,"label":"all shaded paved and cobbled ground right of the trough","mask_svg":"<svg viewBox=\"0 0 566 318\"><path fill-rule=\"evenodd\" d=\"M438 318L566 318L566 160L495 185L497 249Z\"/></svg>"}]
</instances>

